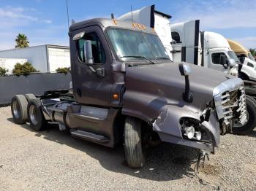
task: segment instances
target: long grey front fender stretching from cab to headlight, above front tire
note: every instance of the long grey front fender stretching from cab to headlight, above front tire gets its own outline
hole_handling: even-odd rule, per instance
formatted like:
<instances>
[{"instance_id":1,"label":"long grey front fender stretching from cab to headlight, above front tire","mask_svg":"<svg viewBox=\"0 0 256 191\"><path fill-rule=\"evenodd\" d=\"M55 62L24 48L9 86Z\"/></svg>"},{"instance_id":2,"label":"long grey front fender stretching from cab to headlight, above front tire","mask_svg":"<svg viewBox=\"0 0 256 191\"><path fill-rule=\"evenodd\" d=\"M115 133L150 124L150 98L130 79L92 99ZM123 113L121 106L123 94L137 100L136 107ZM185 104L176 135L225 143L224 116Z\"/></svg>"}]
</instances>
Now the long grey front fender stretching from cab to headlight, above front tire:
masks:
<instances>
[{"instance_id":1,"label":"long grey front fender stretching from cab to headlight, above front tire","mask_svg":"<svg viewBox=\"0 0 256 191\"><path fill-rule=\"evenodd\" d=\"M206 145L194 141L184 140L181 134L181 117L189 117L200 121L202 111L183 101L170 101L165 98L156 98L154 95L127 91L124 94L122 114L126 114L148 122L154 131L159 134L162 141L182 144L205 149ZM211 137L212 144L219 144L219 122L216 112L211 111L208 122L202 122L202 128L206 128ZM173 142L175 141L175 142ZM203 145L203 146L199 146ZM207 146L211 147L211 146Z\"/></svg>"}]
</instances>

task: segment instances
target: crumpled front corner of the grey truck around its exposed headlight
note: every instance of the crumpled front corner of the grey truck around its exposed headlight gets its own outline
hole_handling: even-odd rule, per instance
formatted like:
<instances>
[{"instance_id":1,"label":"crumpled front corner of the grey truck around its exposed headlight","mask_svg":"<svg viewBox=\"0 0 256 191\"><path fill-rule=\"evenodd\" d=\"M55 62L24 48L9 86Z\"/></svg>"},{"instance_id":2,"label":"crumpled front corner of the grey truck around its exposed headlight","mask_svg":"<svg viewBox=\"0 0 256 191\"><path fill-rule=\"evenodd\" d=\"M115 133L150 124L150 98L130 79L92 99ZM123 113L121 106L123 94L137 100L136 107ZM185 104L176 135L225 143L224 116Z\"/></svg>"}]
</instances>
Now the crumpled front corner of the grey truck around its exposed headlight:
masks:
<instances>
[{"instance_id":1,"label":"crumpled front corner of the grey truck around its exposed headlight","mask_svg":"<svg viewBox=\"0 0 256 191\"><path fill-rule=\"evenodd\" d=\"M165 106L154 121L153 130L162 141L214 152L214 147L219 145L219 122L214 110L210 110L209 114L208 120L201 121L202 112L192 112L178 106ZM187 135L185 128L194 130L194 136ZM197 132L201 133L201 137L196 136Z\"/></svg>"}]
</instances>

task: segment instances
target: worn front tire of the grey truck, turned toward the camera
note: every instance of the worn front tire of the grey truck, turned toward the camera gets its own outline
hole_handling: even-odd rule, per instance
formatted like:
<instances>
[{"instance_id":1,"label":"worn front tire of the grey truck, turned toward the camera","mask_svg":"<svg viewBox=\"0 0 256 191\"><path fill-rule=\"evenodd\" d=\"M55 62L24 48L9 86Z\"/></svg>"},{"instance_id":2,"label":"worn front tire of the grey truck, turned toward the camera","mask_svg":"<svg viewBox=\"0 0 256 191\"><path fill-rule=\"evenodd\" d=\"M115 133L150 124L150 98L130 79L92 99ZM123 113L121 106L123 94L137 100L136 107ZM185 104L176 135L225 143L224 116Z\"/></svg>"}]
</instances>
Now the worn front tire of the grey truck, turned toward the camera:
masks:
<instances>
[{"instance_id":1,"label":"worn front tire of the grey truck, turned toward the camera","mask_svg":"<svg viewBox=\"0 0 256 191\"><path fill-rule=\"evenodd\" d=\"M142 142L142 125L135 117L127 117L124 124L124 152L127 164L132 168L143 167L146 161Z\"/></svg>"}]
</instances>

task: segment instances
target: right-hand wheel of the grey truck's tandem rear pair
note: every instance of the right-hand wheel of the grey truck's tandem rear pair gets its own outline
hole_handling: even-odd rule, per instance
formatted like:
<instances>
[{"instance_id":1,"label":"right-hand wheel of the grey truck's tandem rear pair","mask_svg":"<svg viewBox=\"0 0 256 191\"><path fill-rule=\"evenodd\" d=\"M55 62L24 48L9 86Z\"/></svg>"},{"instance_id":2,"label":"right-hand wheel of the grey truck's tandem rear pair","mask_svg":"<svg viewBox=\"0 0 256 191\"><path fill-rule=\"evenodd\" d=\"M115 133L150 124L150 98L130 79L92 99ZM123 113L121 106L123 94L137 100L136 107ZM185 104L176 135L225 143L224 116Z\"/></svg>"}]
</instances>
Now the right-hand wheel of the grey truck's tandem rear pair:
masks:
<instances>
[{"instance_id":1,"label":"right-hand wheel of the grey truck's tandem rear pair","mask_svg":"<svg viewBox=\"0 0 256 191\"><path fill-rule=\"evenodd\" d=\"M42 104L37 99L31 99L28 104L28 119L31 127L34 130L43 130L47 121L45 120L44 115L42 114Z\"/></svg>"}]
</instances>

